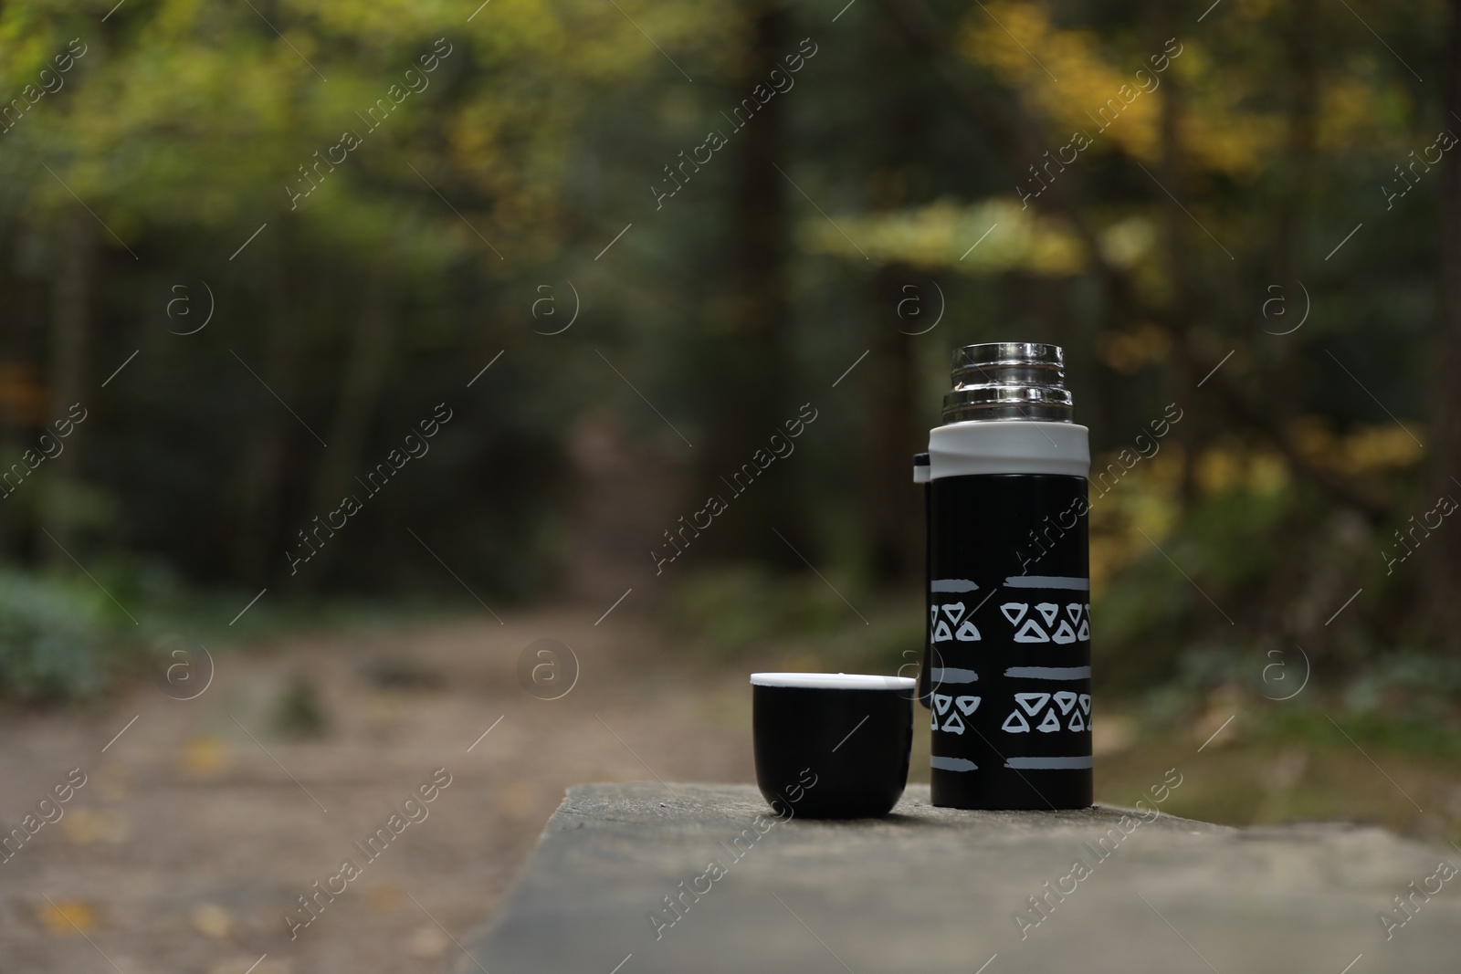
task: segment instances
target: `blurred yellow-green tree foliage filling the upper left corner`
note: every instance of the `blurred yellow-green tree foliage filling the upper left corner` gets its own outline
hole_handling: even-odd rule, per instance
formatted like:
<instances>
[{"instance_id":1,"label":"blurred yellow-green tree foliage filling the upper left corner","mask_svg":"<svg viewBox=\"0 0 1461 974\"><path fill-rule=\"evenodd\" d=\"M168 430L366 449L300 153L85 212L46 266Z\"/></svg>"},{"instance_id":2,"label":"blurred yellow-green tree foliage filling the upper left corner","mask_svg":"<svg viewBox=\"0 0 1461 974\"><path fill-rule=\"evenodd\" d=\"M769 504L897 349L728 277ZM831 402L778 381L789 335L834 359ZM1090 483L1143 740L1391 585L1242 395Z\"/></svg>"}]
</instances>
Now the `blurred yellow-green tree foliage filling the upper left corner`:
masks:
<instances>
[{"instance_id":1,"label":"blurred yellow-green tree foliage filling the upper left corner","mask_svg":"<svg viewBox=\"0 0 1461 974\"><path fill-rule=\"evenodd\" d=\"M723 47L717 28L733 13L720 3L621 6L672 54L693 44ZM0 37L12 35L3 45L12 55L23 47L38 64L64 39L57 48L53 32L26 20L31 13L0 9ZM285 185L305 178L300 165L313 165L313 153L323 156L354 130L365 145L297 213L308 232L352 247L361 231L373 241L400 239L416 181L405 161L422 166L422 153L446 139L444 165L428 175L438 185L466 183L491 200L491 219L468 213L484 235L494 237L491 222L506 219L524 238L551 237L543 228L557 218L567 133L595 88L672 72L614 4L595 0L285 0L264 13L288 41L247 4L124 7L126 34L104 48L92 38L94 53L66 77L64 96L35 105L0 152L45 145L57 174L130 241L143 221L247 222L251 231L256 213L291 209ZM425 89L402 102L380 133L367 134L359 115L390 85L409 85L403 73L419 73L419 57L441 37L454 50L437 72L422 73ZM16 64L9 57L0 74ZM449 86L447 77L456 82ZM73 204L58 183L39 175L25 187L34 207ZM390 180L408 188L389 199L367 188ZM444 251L481 247L454 215L432 213L444 232L412 245L430 250L437 266ZM333 229L345 223L348 235Z\"/></svg>"}]
</instances>

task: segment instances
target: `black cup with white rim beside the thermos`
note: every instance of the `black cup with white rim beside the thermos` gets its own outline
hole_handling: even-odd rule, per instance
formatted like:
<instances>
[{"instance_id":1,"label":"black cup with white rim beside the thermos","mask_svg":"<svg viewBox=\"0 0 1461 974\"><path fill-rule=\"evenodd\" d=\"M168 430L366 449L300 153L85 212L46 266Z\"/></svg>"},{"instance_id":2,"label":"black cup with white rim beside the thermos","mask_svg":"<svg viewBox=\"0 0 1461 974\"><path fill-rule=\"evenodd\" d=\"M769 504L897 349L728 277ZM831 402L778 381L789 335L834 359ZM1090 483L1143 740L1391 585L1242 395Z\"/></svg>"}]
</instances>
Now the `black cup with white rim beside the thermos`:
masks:
<instances>
[{"instance_id":1,"label":"black cup with white rim beside the thermos","mask_svg":"<svg viewBox=\"0 0 1461 974\"><path fill-rule=\"evenodd\" d=\"M752 673L755 783L783 818L878 818L903 794L915 680Z\"/></svg>"}]
</instances>

